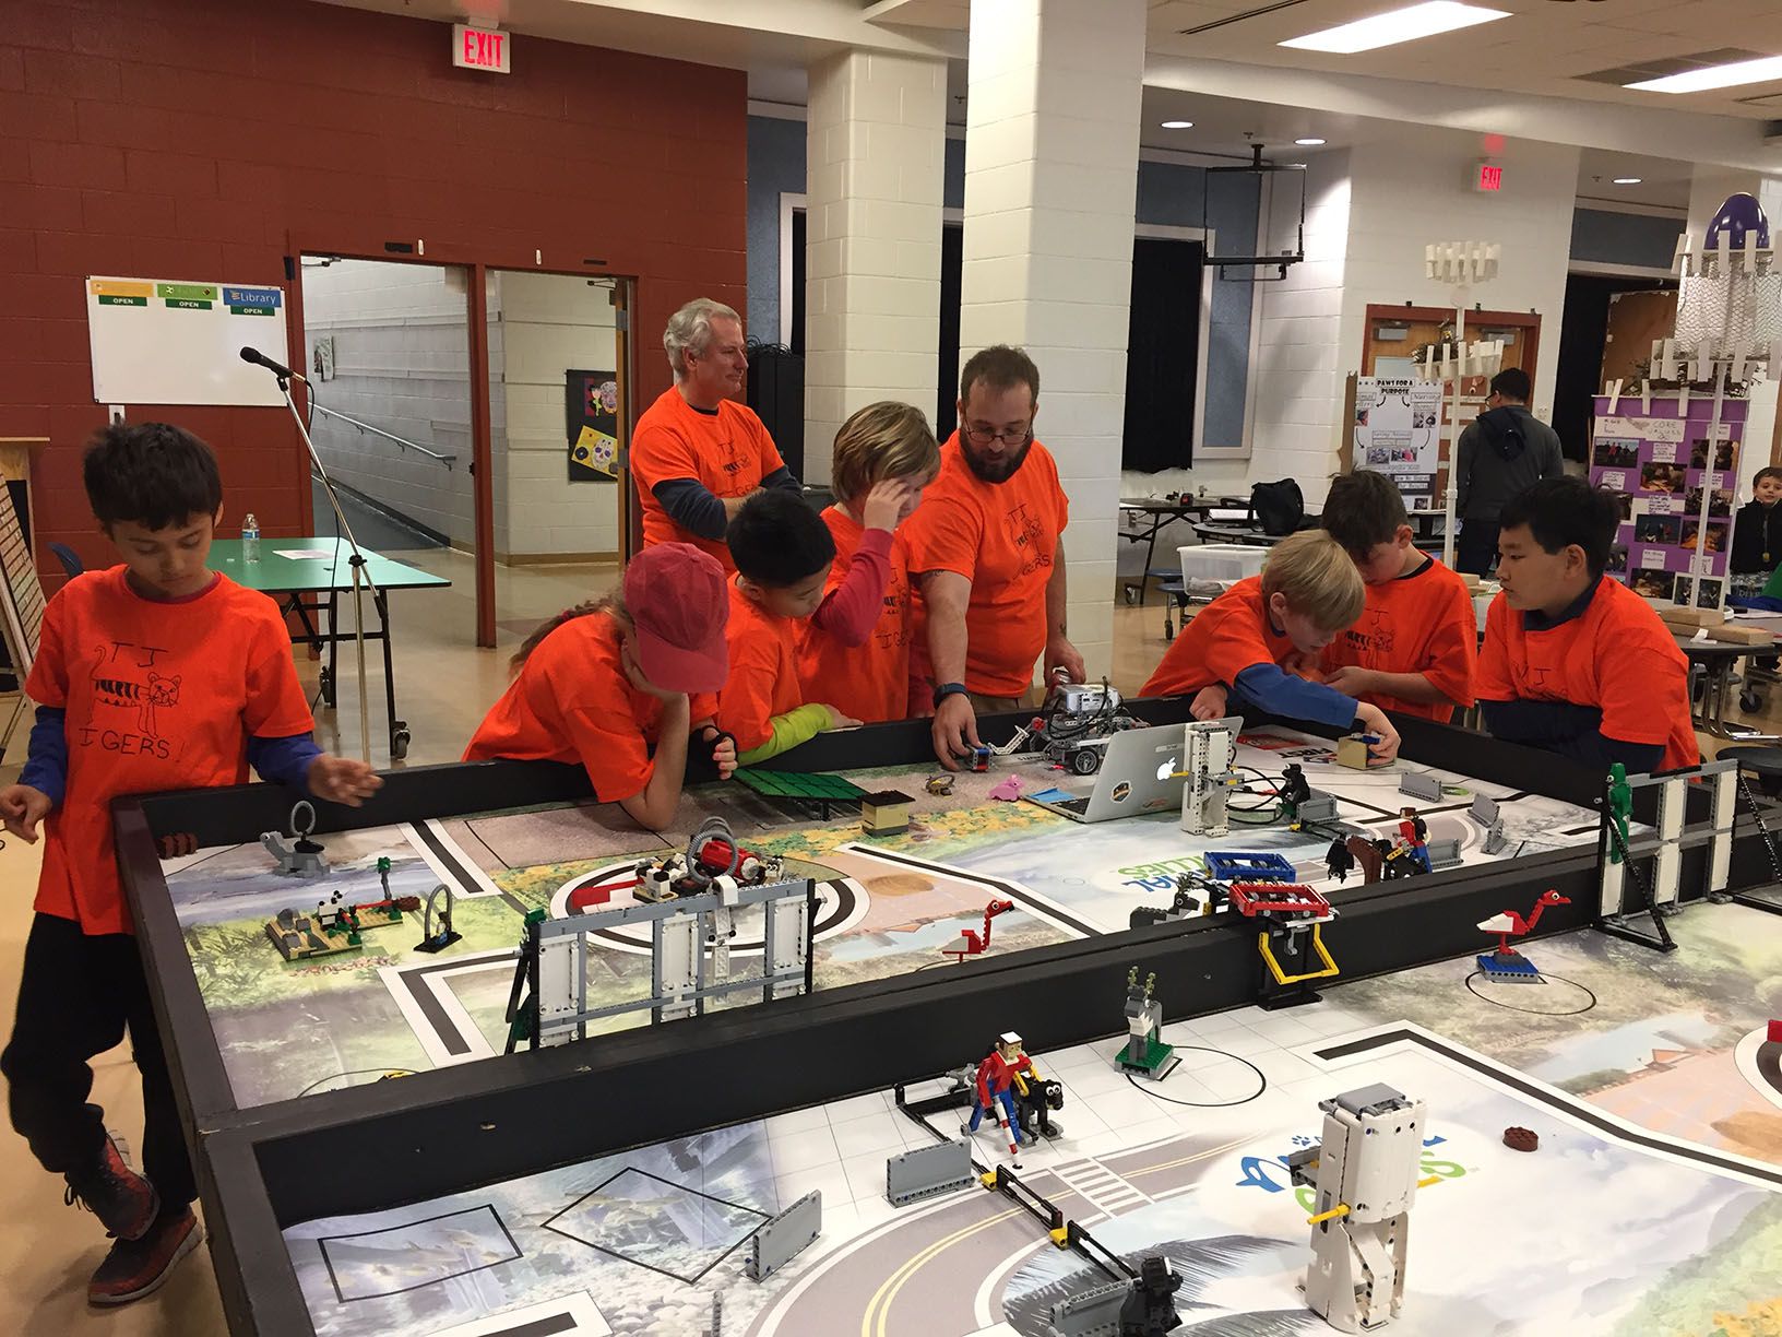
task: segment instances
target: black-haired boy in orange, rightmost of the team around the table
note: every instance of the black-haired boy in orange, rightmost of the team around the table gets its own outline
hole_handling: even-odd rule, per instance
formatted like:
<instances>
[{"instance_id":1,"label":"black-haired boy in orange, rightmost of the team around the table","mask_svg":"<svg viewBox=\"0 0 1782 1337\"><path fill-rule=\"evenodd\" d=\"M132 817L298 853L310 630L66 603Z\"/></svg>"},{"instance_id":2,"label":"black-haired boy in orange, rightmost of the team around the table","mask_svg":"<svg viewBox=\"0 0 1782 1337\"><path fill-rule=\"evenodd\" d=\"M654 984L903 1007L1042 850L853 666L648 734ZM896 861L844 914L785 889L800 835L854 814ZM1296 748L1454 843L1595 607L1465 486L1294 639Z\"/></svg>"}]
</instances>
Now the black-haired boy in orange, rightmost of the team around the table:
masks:
<instances>
[{"instance_id":1,"label":"black-haired boy in orange, rightmost of the team around the table","mask_svg":"<svg viewBox=\"0 0 1782 1337\"><path fill-rule=\"evenodd\" d=\"M1504 504L1484 726L1604 772L1693 767L1689 661L1647 601L1604 576L1620 522L1616 496L1581 478L1543 478Z\"/></svg>"}]
</instances>

